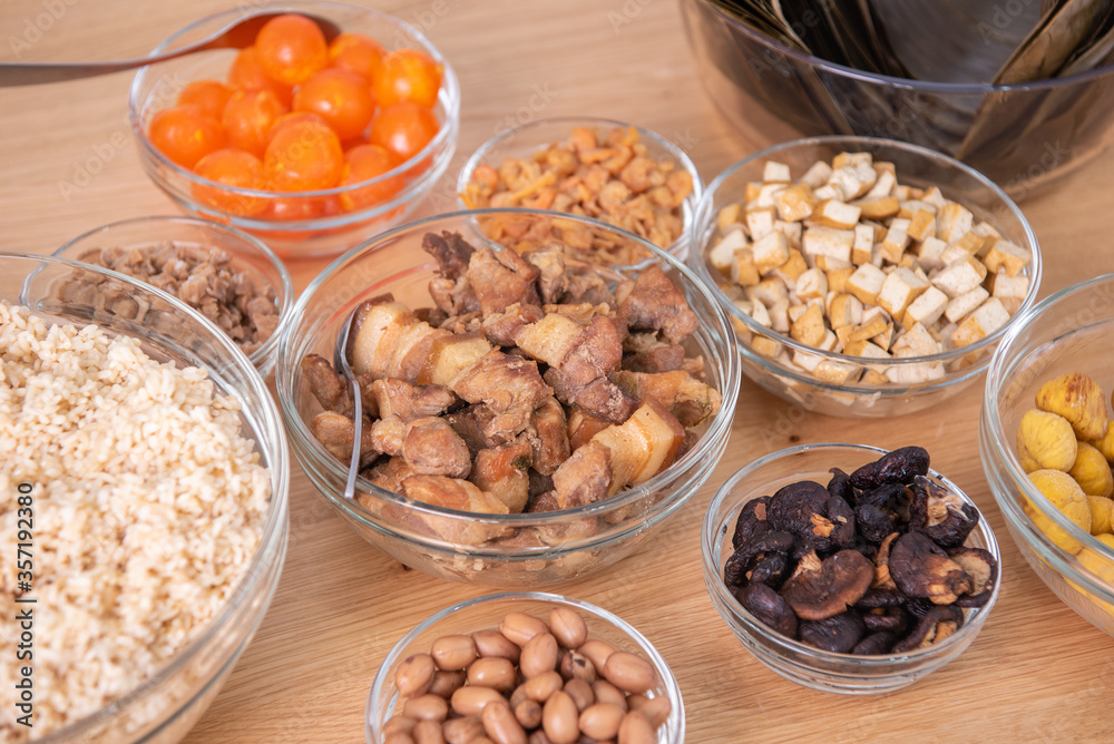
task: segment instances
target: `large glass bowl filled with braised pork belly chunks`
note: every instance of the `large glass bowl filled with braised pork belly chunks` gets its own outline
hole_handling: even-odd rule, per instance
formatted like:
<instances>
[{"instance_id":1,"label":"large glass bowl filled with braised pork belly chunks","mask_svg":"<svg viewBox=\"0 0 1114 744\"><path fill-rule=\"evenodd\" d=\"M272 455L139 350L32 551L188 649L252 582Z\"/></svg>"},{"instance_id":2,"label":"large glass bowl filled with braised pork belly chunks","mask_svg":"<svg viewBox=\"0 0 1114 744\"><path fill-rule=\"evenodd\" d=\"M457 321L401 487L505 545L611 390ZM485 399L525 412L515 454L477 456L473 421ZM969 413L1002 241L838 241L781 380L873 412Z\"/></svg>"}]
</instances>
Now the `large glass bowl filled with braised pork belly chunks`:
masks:
<instances>
[{"instance_id":1,"label":"large glass bowl filled with braised pork belly chunks","mask_svg":"<svg viewBox=\"0 0 1114 744\"><path fill-rule=\"evenodd\" d=\"M555 216L481 209L384 233L326 268L283 332L299 461L407 566L494 586L586 575L661 527L723 453L740 368L722 307L633 234L559 215L657 263L567 251ZM500 244L492 219L526 229ZM536 222L545 239L525 239Z\"/></svg>"}]
</instances>

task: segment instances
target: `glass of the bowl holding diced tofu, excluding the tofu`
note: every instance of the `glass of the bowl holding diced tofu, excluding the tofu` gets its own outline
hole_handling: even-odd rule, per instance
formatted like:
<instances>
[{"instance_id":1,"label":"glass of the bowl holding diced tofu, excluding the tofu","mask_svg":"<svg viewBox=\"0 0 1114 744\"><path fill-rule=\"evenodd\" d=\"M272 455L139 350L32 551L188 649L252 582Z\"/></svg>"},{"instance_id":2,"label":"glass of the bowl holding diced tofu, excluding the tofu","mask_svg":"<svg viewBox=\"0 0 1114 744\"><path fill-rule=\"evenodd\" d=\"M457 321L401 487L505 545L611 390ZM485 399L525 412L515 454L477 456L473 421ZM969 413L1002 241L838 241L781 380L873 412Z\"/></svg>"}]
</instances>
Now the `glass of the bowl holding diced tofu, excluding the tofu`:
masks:
<instances>
[{"instance_id":1,"label":"glass of the bowl holding diced tofu, excluding the tofu","mask_svg":"<svg viewBox=\"0 0 1114 744\"><path fill-rule=\"evenodd\" d=\"M1001 235L1027 248L1033 258L1025 273L1029 278L1028 292L1020 307L1009 322L985 339L930 356L870 360L825 352L800 343L788 334L760 325L740 310L724 291L730 284L709 263L709 253L720 237L716 217L729 204L744 203L746 184L762 180L766 160L788 165L794 175L803 174L819 159L827 159L842 151L869 151L876 160L893 163L898 179L916 187L939 186L946 198L970 209L975 217L997 228ZM711 287L720 304L731 314L737 331L739 353L743 358L743 373L775 395L808 411L836 417L897 417L938 403L958 394L983 374L990 363L990 352L1020 314L1036 302L1040 285L1040 249L1036 235L1017 205L985 176L968 166L924 147L872 137L815 137L774 145L735 163L709 185L697 207L693 223L693 253L690 264ZM778 356L760 353L753 339L763 336L773 343ZM782 353L785 352L785 353ZM840 365L851 365L866 376L870 372L885 374L888 369L922 369L917 365L938 365L942 376L915 384L872 384L854 382L837 384L812 375L790 360L795 353Z\"/></svg>"}]
</instances>

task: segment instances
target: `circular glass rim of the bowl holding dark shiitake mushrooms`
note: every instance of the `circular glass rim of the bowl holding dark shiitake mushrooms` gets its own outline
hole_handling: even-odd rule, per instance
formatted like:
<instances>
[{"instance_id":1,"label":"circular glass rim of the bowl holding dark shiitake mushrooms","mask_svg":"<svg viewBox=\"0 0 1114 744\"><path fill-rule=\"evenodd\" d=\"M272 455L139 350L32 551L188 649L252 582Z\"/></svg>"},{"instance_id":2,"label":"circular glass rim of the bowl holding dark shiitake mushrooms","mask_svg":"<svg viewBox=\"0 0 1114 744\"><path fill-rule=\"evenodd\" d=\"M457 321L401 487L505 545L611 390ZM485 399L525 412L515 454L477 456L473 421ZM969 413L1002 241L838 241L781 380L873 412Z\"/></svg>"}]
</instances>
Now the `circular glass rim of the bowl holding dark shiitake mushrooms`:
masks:
<instances>
[{"instance_id":1,"label":"circular glass rim of the bowl holding dark shiitake mushrooms","mask_svg":"<svg viewBox=\"0 0 1114 744\"><path fill-rule=\"evenodd\" d=\"M783 636L773 628L768 627L761 620L753 617L742 605L739 604L739 600L736 600L731 593L727 591L720 574L720 567L712 564L712 554L715 549L715 544L722 542L723 537L726 535L725 530L732 529L732 526L726 522L723 525L713 523L713 515L719 510L721 505L727 501L732 491L739 486L739 482L752 474L755 470L759 470L763 466L776 460L783 460L801 452L810 452L814 450L852 450L864 453L877 453L878 456L882 456L891 451L880 447L873 447L871 444L854 444L850 442L815 442L811 444L797 444L794 447L786 447L751 460L745 466L733 472L727 480L723 482L723 486L716 490L715 496L712 497L712 501L709 503L707 510L704 512L704 523L701 529L701 562L704 570L704 584L707 588L710 597L712 598L712 604L716 606L719 614L723 617L727 626L733 632L737 630L745 633L746 635L761 635L768 643L771 643L776 647L778 658L783 658L784 654L797 654L802 657L808 657L812 664L853 665L860 669L861 674L885 673L887 672L886 667L891 667L893 665L902 665L932 658L934 656L944 656L948 649L954 646L961 645L970 636L977 634L986 623L986 618L994 608L994 605L998 599L998 593L1001 589L1001 551L998 548L998 540L994 535L994 530L986 520L986 515L983 513L978 506L976 506L976 503L962 489L956 486L954 481L945 477L935 468L929 468L928 474L932 479L944 483L952 492L959 495L965 503L970 505L978 511L979 520L976 529L986 542L986 547L984 549L990 552L990 555L993 555L995 560L998 562L998 578L994 584L990 598L981 607L973 608L975 610L973 613L974 617L965 617L962 626L942 642L900 654L891 653L859 656L854 654L838 654L834 652L828 652ZM747 499L747 501L749 500L750 499ZM733 510L734 507L731 508L731 511ZM715 587L714 591L712 587ZM725 613L720 609L722 606L732 607L733 609L737 608L737 614L745 616L750 620L750 625L741 625L729 619ZM764 653L772 654L772 652Z\"/></svg>"}]
</instances>

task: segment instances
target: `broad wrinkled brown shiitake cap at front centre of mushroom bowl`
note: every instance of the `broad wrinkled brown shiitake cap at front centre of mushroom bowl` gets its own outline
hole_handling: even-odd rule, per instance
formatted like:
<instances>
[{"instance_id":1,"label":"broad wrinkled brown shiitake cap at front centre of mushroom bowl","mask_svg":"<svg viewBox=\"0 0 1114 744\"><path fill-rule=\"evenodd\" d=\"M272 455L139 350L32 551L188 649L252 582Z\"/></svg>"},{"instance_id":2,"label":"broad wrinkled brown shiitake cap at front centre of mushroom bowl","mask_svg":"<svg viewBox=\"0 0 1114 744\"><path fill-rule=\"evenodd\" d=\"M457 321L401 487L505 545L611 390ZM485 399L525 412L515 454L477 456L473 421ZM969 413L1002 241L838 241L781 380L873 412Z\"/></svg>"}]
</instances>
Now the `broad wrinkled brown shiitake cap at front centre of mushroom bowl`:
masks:
<instances>
[{"instance_id":1,"label":"broad wrinkled brown shiitake cap at front centre of mushroom bowl","mask_svg":"<svg viewBox=\"0 0 1114 744\"><path fill-rule=\"evenodd\" d=\"M817 562L814 555L802 559L781 589L801 619L823 620L846 611L862 599L874 578L874 567L857 550L840 550L819 567Z\"/></svg>"}]
</instances>

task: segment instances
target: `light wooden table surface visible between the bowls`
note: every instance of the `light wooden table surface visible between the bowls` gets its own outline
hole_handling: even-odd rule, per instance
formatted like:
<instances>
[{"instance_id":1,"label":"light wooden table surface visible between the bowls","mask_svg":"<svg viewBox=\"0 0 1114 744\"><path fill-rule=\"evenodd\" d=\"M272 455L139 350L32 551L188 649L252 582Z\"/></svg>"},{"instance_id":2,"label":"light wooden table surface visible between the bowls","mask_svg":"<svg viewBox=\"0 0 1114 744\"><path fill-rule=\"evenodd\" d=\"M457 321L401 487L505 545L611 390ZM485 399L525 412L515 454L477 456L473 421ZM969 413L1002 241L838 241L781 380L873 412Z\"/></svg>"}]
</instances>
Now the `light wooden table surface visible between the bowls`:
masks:
<instances>
[{"instance_id":1,"label":"light wooden table surface visible between the bowls","mask_svg":"<svg viewBox=\"0 0 1114 744\"><path fill-rule=\"evenodd\" d=\"M423 28L460 78L451 178L421 214L451 208L458 169L496 129L536 117L637 123L685 147L705 182L755 149L702 90L674 0L369 4ZM0 59L137 56L231 6L3 0ZM0 249L49 253L97 225L175 212L130 141L130 79L0 91ZM1104 175L1112 166L1114 151L1023 204L1046 256L1042 296L1114 270ZM320 264L290 267L301 288ZM1110 741L1114 645L1045 588L1007 537L977 454L980 392L976 384L901 420L853 421L805 414L744 381L709 483L635 556L559 591L618 614L657 646L681 684L690 742ZM698 532L716 487L758 456L829 440L928 448L1000 540L1001 594L981 635L956 662L898 693L847 697L782 679L740 646L704 590ZM368 689L388 649L431 613L486 593L404 570L334 517L296 464L290 498L290 550L274 601L190 743L362 741Z\"/></svg>"}]
</instances>

